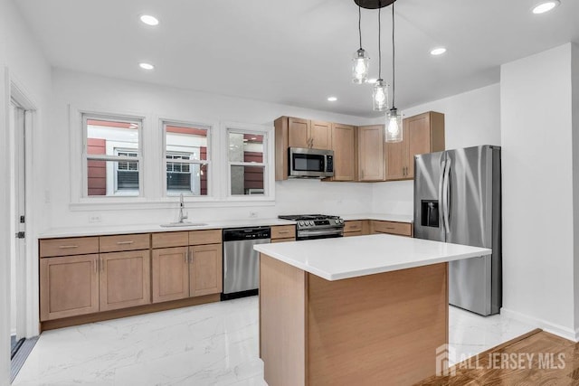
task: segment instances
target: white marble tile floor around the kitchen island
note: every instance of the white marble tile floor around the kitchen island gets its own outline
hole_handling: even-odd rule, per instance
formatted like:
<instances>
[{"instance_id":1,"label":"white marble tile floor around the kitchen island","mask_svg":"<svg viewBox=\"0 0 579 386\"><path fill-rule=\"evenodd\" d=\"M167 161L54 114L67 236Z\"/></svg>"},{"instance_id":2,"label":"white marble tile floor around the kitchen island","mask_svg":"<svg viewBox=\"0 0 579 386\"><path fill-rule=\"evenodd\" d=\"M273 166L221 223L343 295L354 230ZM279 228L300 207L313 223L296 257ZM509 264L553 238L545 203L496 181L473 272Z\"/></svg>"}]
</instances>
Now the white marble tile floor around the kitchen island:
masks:
<instances>
[{"instance_id":1,"label":"white marble tile floor around the kitchen island","mask_svg":"<svg viewBox=\"0 0 579 386\"><path fill-rule=\"evenodd\" d=\"M533 329L455 307L450 327L454 362ZM245 297L45 332L13 385L266 385L258 353Z\"/></svg>"}]
</instances>

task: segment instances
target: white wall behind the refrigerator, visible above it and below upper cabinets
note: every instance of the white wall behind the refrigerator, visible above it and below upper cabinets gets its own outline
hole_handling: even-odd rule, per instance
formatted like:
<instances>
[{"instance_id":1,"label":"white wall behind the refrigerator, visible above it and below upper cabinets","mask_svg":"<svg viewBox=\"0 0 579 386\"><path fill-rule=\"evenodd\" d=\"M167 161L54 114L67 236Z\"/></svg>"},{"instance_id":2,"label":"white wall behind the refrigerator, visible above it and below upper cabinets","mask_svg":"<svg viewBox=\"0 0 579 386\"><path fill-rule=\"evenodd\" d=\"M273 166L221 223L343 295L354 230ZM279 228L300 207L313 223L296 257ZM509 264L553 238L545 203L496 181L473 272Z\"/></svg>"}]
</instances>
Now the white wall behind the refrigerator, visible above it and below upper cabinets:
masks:
<instances>
[{"instance_id":1,"label":"white wall behind the refrigerator, visible above it and below upper cabinets","mask_svg":"<svg viewBox=\"0 0 579 386\"><path fill-rule=\"evenodd\" d=\"M444 114L447 149L500 145L500 86L493 84L403 110L404 117L426 111ZM382 123L382 122L376 122ZM374 212L413 214L413 182L374 184Z\"/></svg>"}]
</instances>

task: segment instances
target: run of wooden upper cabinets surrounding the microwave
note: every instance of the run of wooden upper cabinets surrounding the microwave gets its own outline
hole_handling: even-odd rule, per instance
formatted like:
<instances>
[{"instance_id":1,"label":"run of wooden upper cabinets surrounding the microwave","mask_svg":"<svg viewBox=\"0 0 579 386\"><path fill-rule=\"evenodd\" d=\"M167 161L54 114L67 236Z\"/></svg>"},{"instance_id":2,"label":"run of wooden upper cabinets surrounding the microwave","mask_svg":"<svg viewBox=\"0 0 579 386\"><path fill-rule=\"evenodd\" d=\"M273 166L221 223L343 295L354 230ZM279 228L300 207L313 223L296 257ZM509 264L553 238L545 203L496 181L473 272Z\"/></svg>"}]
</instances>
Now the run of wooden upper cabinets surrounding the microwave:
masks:
<instances>
[{"instance_id":1,"label":"run of wooden upper cabinets surrounding the microwave","mask_svg":"<svg viewBox=\"0 0 579 386\"><path fill-rule=\"evenodd\" d=\"M444 150L444 114L403 120L403 141L384 142L384 125L354 127L302 118L275 120L275 179L288 179L288 148L334 151L334 176L324 181L412 180L414 155Z\"/></svg>"}]
</instances>

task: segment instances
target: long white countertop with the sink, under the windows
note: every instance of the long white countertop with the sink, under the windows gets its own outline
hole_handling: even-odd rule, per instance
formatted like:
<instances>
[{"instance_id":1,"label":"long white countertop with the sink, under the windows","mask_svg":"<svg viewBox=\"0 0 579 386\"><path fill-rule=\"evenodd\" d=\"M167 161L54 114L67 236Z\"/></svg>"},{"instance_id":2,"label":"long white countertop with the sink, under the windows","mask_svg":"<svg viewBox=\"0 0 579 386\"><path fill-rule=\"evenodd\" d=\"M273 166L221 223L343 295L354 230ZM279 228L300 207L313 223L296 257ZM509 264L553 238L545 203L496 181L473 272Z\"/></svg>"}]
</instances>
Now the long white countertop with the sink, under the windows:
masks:
<instances>
[{"instance_id":1,"label":"long white countertop with the sink, under the windows","mask_svg":"<svg viewBox=\"0 0 579 386\"><path fill-rule=\"evenodd\" d=\"M267 225L293 225L296 221L280 219L244 219L244 220L222 220L222 221L192 221L195 223L205 223L201 226L184 226L184 227L162 227L157 224L136 224L136 225L100 225L91 227L76 228L54 228L50 231L43 232L40 239L52 239L60 237L79 237L79 236L100 236L109 234L128 234L128 233L149 233L162 231L201 231L222 228L242 228L258 227Z\"/></svg>"}]
</instances>

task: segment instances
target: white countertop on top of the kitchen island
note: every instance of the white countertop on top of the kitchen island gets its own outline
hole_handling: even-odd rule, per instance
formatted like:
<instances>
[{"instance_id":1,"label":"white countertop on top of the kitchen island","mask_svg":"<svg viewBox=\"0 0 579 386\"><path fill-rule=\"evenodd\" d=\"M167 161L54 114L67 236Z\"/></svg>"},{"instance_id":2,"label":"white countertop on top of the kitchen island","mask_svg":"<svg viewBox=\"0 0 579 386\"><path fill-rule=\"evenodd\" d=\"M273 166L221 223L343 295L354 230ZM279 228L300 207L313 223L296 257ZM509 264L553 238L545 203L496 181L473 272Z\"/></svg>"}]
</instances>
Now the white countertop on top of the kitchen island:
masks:
<instances>
[{"instance_id":1,"label":"white countertop on top of the kitchen island","mask_svg":"<svg viewBox=\"0 0 579 386\"><path fill-rule=\"evenodd\" d=\"M491 253L491 249L486 248L387 234L260 244L253 248L327 280L357 278Z\"/></svg>"}]
</instances>

